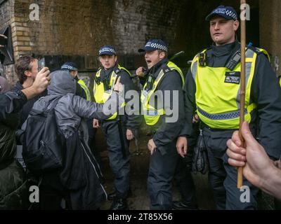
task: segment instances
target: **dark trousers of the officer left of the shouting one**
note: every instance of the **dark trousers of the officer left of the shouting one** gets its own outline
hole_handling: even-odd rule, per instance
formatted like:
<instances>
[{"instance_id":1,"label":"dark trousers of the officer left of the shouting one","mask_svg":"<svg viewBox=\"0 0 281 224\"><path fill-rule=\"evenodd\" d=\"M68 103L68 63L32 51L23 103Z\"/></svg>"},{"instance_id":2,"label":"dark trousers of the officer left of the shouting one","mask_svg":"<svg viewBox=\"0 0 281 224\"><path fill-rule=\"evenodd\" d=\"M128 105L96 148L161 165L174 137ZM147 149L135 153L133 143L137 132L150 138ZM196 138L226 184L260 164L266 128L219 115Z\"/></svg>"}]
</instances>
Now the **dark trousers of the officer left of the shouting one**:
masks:
<instances>
[{"instance_id":1,"label":"dark trousers of the officer left of the shouting one","mask_svg":"<svg viewBox=\"0 0 281 224\"><path fill-rule=\"evenodd\" d=\"M124 199L128 196L130 174L129 141L126 140L126 128L122 126L123 139L120 139L118 123L116 120L103 122L102 129L107 142L110 168L115 174L115 190L117 197ZM125 157L122 154L122 140L124 141L125 146Z\"/></svg>"}]
</instances>

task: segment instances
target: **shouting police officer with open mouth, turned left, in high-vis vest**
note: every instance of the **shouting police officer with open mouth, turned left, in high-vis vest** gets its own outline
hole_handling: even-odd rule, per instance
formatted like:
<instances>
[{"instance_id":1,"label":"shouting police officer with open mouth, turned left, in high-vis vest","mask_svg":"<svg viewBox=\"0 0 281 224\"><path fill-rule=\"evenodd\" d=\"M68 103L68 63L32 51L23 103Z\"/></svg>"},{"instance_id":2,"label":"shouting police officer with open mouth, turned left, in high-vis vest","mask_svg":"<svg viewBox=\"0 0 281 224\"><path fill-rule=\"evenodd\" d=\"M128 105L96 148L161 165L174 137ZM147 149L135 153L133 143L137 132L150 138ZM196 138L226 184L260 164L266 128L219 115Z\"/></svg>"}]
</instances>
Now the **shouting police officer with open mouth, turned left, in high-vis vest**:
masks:
<instances>
[{"instance_id":1,"label":"shouting police officer with open mouth, turned left, in high-vis vest","mask_svg":"<svg viewBox=\"0 0 281 224\"><path fill-rule=\"evenodd\" d=\"M140 67L136 70L137 76L143 76L143 116L155 133L148 141L151 154L148 173L150 209L171 209L171 181L179 159L176 138L184 121L183 73L167 59L168 49L162 40L148 41L139 52L145 52L147 64L147 69ZM169 120L173 115L177 115L176 119Z\"/></svg>"}]
</instances>

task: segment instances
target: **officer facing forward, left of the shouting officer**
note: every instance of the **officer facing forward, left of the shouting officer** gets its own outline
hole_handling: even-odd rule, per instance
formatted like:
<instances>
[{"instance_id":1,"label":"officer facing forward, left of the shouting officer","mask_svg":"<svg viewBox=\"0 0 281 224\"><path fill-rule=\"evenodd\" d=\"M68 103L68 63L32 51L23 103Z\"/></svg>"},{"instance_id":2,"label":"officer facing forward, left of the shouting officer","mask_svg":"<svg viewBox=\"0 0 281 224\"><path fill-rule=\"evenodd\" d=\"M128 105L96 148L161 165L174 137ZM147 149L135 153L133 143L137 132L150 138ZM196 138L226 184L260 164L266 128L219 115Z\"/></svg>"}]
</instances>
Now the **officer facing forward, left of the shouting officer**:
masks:
<instances>
[{"instance_id":1,"label":"officer facing forward, left of the shouting officer","mask_svg":"<svg viewBox=\"0 0 281 224\"><path fill-rule=\"evenodd\" d=\"M105 103L113 91L113 86L120 76L120 82L124 84L124 92L134 89L131 73L117 64L115 48L105 45L99 50L99 59L102 67L94 76L93 98L99 104ZM128 100L128 99L126 99ZM126 198L129 191L129 140L133 139L133 130L140 125L140 116L137 113L128 116L112 114L107 120L94 120L93 127L101 125L107 141L107 151L110 167L115 174L114 201L110 209L128 209Z\"/></svg>"}]
</instances>

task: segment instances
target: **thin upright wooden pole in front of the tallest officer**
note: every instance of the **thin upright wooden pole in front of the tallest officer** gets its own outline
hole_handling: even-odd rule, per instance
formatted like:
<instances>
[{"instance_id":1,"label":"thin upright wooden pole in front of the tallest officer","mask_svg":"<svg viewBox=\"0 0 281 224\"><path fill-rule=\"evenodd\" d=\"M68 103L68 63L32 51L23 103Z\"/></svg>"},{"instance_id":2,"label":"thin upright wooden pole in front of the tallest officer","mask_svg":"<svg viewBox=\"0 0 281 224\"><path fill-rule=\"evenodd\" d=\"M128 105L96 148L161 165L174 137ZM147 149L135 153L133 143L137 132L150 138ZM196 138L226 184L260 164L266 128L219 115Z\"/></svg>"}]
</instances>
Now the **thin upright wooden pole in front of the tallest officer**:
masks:
<instances>
[{"instance_id":1,"label":"thin upright wooden pole in front of the tallest officer","mask_svg":"<svg viewBox=\"0 0 281 224\"><path fill-rule=\"evenodd\" d=\"M246 0L240 0L240 4L246 3ZM240 6L241 6L240 5ZM241 9L242 13L243 9ZM246 18L241 18L241 76L240 76L240 126L239 136L242 141L242 147L244 147L244 139L241 134L242 123L244 122L244 104L245 104L245 49L246 49ZM243 167L238 167L237 170L237 188L243 186Z\"/></svg>"}]
</instances>

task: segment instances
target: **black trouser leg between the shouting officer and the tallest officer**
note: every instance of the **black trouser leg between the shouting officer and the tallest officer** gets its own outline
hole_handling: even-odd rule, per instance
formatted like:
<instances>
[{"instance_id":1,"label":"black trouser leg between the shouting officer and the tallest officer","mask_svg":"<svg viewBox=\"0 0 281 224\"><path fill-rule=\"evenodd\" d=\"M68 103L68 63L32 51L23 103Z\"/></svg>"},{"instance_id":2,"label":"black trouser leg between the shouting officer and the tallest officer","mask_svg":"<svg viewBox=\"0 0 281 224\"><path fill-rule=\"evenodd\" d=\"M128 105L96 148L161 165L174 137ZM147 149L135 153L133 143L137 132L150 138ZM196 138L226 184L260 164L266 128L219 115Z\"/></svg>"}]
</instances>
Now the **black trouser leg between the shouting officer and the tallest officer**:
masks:
<instances>
[{"instance_id":1,"label":"black trouser leg between the shouting officer and the tallest officer","mask_svg":"<svg viewBox=\"0 0 281 224\"><path fill-rule=\"evenodd\" d=\"M176 179L178 190L181 193L181 200L183 200L185 204L189 204L190 207L196 207L195 185L185 159L178 159L174 178Z\"/></svg>"}]
</instances>

